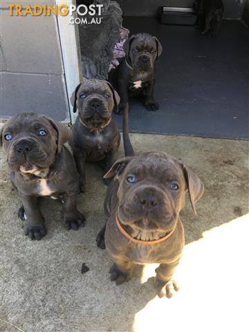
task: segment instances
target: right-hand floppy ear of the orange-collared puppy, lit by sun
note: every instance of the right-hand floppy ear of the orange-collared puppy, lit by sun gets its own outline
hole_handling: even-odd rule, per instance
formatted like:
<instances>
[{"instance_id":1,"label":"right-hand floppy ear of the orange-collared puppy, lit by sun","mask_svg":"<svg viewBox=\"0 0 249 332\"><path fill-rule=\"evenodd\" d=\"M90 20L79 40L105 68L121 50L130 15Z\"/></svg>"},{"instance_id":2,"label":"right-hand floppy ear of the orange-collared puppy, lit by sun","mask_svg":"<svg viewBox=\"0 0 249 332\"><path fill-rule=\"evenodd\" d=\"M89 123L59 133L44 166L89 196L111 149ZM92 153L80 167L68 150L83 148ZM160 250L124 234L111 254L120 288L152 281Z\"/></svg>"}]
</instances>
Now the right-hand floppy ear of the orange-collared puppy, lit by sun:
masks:
<instances>
[{"instance_id":1,"label":"right-hand floppy ear of the orange-collared puppy, lit by sun","mask_svg":"<svg viewBox=\"0 0 249 332\"><path fill-rule=\"evenodd\" d=\"M196 214L195 203L201 199L204 192L204 185L199 179L199 177L192 172L187 166L183 165L183 174L185 176L185 181L187 183L187 190L190 196L190 203L192 205L192 209L194 210L194 214Z\"/></svg>"}]
</instances>

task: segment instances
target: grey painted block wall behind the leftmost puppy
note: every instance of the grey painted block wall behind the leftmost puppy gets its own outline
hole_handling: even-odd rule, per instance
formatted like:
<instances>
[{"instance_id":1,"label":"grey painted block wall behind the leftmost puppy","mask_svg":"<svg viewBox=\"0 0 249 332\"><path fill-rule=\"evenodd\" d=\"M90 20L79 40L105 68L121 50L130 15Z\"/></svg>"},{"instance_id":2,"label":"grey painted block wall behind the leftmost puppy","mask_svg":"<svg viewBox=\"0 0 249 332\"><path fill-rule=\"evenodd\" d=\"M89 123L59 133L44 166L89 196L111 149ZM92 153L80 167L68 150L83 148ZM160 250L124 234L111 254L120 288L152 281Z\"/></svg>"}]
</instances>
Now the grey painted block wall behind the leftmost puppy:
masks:
<instances>
[{"instance_id":1,"label":"grey painted block wall behind the leftmost puppy","mask_svg":"<svg viewBox=\"0 0 249 332\"><path fill-rule=\"evenodd\" d=\"M52 0L43 2L54 4ZM65 120L68 100L57 18L11 17L8 3L0 2L1 118L35 111Z\"/></svg>"}]
</instances>

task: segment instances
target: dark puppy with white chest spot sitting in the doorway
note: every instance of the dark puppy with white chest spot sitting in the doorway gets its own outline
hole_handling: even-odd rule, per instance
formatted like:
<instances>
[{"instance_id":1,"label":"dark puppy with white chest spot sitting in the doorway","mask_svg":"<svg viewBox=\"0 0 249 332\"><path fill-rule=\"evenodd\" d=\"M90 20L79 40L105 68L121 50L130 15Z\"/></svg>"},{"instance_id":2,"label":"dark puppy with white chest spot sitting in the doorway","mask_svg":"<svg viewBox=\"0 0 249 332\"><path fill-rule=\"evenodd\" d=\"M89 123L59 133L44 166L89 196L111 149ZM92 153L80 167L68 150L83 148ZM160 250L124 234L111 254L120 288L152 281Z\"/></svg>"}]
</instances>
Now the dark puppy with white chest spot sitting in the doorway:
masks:
<instances>
[{"instance_id":1,"label":"dark puppy with white chest spot sitting in the doorway","mask_svg":"<svg viewBox=\"0 0 249 332\"><path fill-rule=\"evenodd\" d=\"M148 111L159 109L154 100L156 60L163 51L158 39L147 33L131 35L124 43L126 56L109 73L109 82L120 95L118 113L128 107L129 96L140 95Z\"/></svg>"}]
</instances>

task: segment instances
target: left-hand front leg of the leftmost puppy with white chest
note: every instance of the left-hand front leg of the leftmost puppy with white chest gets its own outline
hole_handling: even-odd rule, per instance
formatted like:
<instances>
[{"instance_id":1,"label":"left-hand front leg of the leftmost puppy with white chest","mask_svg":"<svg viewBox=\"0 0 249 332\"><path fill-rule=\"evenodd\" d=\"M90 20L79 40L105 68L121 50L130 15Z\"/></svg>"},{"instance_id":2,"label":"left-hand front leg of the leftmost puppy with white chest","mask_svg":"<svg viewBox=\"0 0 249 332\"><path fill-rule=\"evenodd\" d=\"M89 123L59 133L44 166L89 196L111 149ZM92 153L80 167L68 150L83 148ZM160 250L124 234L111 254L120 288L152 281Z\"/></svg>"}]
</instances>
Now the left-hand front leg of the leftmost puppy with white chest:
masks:
<instances>
[{"instance_id":1,"label":"left-hand front leg of the leftmost puppy with white chest","mask_svg":"<svg viewBox=\"0 0 249 332\"><path fill-rule=\"evenodd\" d=\"M24 213L27 218L25 234L28 235L31 240L40 240L46 234L46 228L44 225L44 216L42 216L39 210L39 198L20 193L19 195L24 205Z\"/></svg>"}]
</instances>

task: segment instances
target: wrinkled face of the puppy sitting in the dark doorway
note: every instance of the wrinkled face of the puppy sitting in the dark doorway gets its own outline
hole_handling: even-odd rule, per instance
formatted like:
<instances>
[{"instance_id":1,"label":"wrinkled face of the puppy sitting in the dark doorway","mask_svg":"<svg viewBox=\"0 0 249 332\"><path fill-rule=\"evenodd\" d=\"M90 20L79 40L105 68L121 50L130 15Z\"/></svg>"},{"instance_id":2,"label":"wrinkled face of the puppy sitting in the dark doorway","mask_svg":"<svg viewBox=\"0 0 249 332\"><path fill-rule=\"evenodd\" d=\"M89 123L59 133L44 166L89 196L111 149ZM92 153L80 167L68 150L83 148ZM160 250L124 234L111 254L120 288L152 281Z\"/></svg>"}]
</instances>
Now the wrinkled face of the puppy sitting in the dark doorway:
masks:
<instances>
[{"instance_id":1,"label":"wrinkled face of the puppy sitting in the dark doorway","mask_svg":"<svg viewBox=\"0 0 249 332\"><path fill-rule=\"evenodd\" d=\"M129 59L134 70L152 71L157 57L156 39L149 35L135 37L129 47Z\"/></svg>"}]
</instances>

